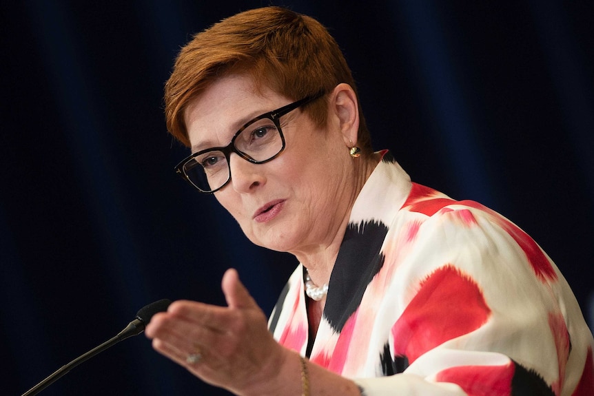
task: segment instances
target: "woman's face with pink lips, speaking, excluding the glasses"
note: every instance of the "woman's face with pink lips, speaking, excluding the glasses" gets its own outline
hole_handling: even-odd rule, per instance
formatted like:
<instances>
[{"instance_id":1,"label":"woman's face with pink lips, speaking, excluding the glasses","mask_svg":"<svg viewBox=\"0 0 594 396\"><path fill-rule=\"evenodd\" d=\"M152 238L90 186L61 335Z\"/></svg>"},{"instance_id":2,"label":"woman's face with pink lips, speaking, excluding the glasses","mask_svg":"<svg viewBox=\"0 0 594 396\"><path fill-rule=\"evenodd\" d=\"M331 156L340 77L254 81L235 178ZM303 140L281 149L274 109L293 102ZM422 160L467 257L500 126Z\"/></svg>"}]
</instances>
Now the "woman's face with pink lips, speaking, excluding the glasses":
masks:
<instances>
[{"instance_id":1,"label":"woman's face with pink lips, speaking, excluding the glasses","mask_svg":"<svg viewBox=\"0 0 594 396\"><path fill-rule=\"evenodd\" d=\"M256 92L249 77L227 76L192 101L184 114L192 152L226 146L252 118L292 102ZM280 118L286 147L274 160L256 165L231 154L231 180L214 195L255 244L298 254L337 238L354 176L348 139L333 120L320 129L297 109Z\"/></svg>"}]
</instances>

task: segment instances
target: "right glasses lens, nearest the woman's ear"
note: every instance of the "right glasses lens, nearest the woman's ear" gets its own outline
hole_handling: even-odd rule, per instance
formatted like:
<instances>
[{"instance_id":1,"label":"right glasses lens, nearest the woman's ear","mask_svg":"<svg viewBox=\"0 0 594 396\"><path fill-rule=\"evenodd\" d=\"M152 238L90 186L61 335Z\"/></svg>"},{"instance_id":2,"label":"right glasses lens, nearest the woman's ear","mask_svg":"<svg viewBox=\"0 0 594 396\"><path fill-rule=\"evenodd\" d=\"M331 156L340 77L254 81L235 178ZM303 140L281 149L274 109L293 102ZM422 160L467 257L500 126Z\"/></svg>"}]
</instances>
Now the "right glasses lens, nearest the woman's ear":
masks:
<instances>
[{"instance_id":1,"label":"right glasses lens, nearest the woman's ear","mask_svg":"<svg viewBox=\"0 0 594 396\"><path fill-rule=\"evenodd\" d=\"M283 150L283 138L278 125L269 118L262 118L247 125L235 138L235 148L253 160L263 162Z\"/></svg>"}]
</instances>

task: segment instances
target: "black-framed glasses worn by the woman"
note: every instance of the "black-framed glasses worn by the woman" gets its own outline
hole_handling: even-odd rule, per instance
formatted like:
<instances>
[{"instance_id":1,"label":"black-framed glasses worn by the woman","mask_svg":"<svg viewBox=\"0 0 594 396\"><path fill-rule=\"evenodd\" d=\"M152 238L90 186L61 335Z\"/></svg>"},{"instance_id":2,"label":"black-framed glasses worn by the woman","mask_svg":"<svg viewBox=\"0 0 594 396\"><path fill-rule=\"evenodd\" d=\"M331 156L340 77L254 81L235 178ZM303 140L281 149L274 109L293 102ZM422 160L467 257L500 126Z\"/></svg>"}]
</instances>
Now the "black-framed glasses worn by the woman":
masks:
<instances>
[{"instance_id":1,"label":"black-framed glasses worn by the woman","mask_svg":"<svg viewBox=\"0 0 594 396\"><path fill-rule=\"evenodd\" d=\"M212 194L225 187L231 180L229 156L235 153L253 164L267 163L285 149L285 136L280 129L280 117L324 93L307 96L272 112L261 114L249 121L234 134L225 147L211 147L188 156L175 167L184 180L205 194Z\"/></svg>"}]
</instances>

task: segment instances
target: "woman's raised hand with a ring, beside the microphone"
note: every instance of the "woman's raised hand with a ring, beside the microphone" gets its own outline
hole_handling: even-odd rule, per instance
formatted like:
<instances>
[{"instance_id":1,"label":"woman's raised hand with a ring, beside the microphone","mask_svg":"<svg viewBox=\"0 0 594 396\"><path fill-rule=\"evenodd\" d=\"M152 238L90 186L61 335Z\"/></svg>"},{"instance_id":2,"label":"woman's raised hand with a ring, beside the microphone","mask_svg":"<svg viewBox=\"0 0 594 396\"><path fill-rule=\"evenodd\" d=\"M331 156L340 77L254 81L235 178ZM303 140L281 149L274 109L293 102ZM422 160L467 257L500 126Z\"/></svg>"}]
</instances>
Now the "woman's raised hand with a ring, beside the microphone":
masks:
<instances>
[{"instance_id":1,"label":"woman's raised hand with a ring, beside the microphone","mask_svg":"<svg viewBox=\"0 0 594 396\"><path fill-rule=\"evenodd\" d=\"M209 384L237 395L278 394L287 388L280 375L283 366L296 364L294 353L274 340L236 270L225 272L222 288L227 306L173 302L152 317L146 336L156 351Z\"/></svg>"}]
</instances>

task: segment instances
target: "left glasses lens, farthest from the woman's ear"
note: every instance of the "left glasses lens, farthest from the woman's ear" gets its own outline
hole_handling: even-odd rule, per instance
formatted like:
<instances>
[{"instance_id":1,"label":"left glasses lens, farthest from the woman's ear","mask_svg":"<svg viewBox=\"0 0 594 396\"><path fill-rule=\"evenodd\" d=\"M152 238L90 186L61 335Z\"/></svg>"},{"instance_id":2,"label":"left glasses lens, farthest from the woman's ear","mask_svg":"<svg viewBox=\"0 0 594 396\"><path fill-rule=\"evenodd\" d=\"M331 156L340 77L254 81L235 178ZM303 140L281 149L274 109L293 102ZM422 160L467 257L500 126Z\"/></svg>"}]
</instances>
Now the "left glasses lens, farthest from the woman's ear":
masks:
<instances>
[{"instance_id":1,"label":"left glasses lens, farthest from the woman's ear","mask_svg":"<svg viewBox=\"0 0 594 396\"><path fill-rule=\"evenodd\" d=\"M185 163L183 171L193 185L205 192L221 188L229 179L227 158L218 150L192 158Z\"/></svg>"}]
</instances>

